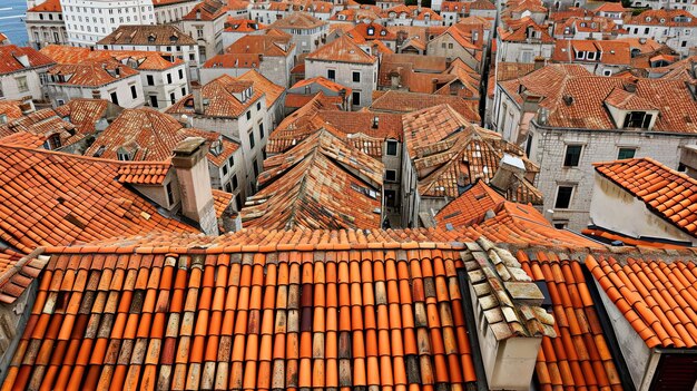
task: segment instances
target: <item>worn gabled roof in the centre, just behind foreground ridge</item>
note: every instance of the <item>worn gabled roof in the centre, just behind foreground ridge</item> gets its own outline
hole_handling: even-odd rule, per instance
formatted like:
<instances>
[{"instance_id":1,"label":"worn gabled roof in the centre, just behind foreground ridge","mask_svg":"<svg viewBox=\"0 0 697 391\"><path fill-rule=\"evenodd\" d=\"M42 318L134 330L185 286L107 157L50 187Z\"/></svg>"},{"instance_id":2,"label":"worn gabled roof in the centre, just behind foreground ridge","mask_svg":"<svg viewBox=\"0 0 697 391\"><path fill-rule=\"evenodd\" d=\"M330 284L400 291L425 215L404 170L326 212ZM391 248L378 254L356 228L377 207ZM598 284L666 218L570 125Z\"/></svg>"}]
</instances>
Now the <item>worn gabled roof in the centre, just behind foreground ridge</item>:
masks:
<instances>
[{"instance_id":1,"label":"worn gabled roof in the centre, just behind foreground ridge","mask_svg":"<svg viewBox=\"0 0 697 391\"><path fill-rule=\"evenodd\" d=\"M320 130L264 162L259 192L242 209L245 227L380 228L381 162Z\"/></svg>"}]
</instances>

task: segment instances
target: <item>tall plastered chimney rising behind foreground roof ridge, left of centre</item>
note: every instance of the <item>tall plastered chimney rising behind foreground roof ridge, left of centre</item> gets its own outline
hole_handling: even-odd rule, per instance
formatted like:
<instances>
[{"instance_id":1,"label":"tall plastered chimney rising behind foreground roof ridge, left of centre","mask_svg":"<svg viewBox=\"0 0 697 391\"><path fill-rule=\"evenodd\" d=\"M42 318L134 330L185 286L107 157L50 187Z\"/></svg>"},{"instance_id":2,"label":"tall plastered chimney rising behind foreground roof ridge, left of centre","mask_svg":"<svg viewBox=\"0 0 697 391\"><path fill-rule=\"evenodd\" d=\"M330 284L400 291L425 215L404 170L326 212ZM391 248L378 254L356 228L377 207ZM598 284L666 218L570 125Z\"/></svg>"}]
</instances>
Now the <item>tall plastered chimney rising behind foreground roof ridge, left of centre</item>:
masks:
<instances>
[{"instance_id":1,"label":"tall plastered chimney rising behind foreground roof ridge, left of centre","mask_svg":"<svg viewBox=\"0 0 697 391\"><path fill-rule=\"evenodd\" d=\"M187 137L175 148L171 164L179 180L181 214L198 222L206 235L218 235L207 153L205 138Z\"/></svg>"}]
</instances>

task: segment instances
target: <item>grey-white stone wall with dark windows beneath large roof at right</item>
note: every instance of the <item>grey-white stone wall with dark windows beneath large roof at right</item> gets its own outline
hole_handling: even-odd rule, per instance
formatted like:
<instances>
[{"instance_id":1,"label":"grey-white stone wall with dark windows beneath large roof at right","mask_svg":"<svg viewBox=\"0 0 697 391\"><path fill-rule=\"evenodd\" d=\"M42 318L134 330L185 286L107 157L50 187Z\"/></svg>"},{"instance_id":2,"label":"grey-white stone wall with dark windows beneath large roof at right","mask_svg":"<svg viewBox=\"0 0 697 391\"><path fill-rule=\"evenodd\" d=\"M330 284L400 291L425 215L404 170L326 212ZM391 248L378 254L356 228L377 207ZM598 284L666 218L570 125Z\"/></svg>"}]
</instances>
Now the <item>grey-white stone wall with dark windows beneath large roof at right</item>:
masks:
<instances>
[{"instance_id":1,"label":"grey-white stone wall with dark windows beneath large roof at right","mask_svg":"<svg viewBox=\"0 0 697 391\"><path fill-rule=\"evenodd\" d=\"M554 222L568 222L568 227L580 231L588 226L593 192L592 163L615 160L620 147L637 148L636 157L651 157L676 169L680 149L697 141L697 135L665 134L634 130L571 130L541 129L530 125L532 148L530 158L540 166L536 186L544 195L544 211L552 209ZM578 167L563 167L566 147L582 145ZM575 186L568 209L556 209L558 186Z\"/></svg>"}]
</instances>

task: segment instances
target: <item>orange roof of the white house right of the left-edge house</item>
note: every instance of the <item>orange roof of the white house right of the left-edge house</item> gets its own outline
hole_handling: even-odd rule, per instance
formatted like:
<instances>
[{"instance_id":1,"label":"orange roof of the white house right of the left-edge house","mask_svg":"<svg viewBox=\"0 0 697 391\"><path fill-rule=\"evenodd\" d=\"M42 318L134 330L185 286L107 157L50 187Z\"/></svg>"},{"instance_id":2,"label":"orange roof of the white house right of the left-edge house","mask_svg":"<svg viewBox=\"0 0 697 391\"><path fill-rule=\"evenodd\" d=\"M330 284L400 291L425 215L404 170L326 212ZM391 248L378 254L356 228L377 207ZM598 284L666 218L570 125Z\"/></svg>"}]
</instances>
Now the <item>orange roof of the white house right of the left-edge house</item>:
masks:
<instances>
[{"instance_id":1,"label":"orange roof of the white house right of the left-edge house","mask_svg":"<svg viewBox=\"0 0 697 391\"><path fill-rule=\"evenodd\" d=\"M115 72L119 71L120 76ZM65 81L50 81L78 87L101 87L138 75L138 71L114 59L88 60L80 63L59 63L48 70L51 76L62 76Z\"/></svg>"}]
</instances>

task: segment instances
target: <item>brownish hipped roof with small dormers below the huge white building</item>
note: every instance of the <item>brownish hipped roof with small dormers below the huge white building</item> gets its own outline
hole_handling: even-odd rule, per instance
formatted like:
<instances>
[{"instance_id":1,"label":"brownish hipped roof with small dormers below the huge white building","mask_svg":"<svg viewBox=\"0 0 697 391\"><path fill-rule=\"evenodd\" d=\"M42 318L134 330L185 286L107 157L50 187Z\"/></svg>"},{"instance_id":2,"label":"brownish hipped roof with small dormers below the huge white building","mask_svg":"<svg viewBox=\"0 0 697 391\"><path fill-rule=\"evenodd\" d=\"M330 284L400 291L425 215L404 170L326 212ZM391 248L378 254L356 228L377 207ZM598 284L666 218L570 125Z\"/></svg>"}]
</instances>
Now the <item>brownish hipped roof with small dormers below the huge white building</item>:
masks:
<instances>
[{"instance_id":1,"label":"brownish hipped roof with small dormers below the huge white building","mask_svg":"<svg viewBox=\"0 0 697 391\"><path fill-rule=\"evenodd\" d=\"M97 45L190 46L192 36L174 25L121 25Z\"/></svg>"}]
</instances>

